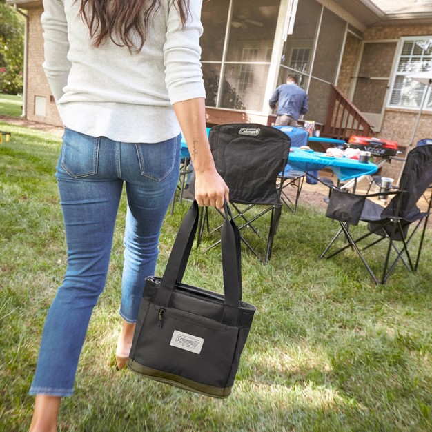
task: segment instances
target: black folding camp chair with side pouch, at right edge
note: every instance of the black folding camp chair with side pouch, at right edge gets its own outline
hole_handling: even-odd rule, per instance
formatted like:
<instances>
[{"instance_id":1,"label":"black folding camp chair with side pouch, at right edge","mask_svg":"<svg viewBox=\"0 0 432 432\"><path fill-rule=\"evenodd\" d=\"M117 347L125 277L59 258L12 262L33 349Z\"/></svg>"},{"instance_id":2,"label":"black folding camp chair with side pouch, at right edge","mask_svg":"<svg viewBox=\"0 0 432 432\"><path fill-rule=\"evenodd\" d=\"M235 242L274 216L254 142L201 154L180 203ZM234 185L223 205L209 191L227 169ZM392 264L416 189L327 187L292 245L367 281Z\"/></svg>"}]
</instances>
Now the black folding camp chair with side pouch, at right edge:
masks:
<instances>
[{"instance_id":1,"label":"black folding camp chair with side pouch, at right edge","mask_svg":"<svg viewBox=\"0 0 432 432\"><path fill-rule=\"evenodd\" d=\"M402 172L400 186L397 189L389 189L378 193L356 195L327 184L331 188L331 195L326 210L326 217L336 219L340 223L340 230L333 237L321 257L331 258L347 248L353 248L362 259L373 281L384 284L389 278L397 262L402 262L409 271L415 271L420 261L420 253L424 240L427 220L431 213L431 202L425 212L421 212L417 206L418 199L422 197L432 181L432 145L418 146L411 150L406 157L406 164ZM391 197L386 207L371 201L371 197ZM358 222L366 222L368 232L358 238L351 235L350 225ZM416 248L409 247L415 233L423 223L420 230L421 236ZM341 235L341 234L344 235ZM375 240L366 246L362 246L366 239L375 235ZM331 252L332 246L338 237L346 240L346 245L337 251ZM377 239L376 239L377 237ZM388 242L384 256L384 266L380 279L371 269L370 260L363 253L386 240ZM362 243L362 244L360 244ZM362 249L360 250L360 247ZM333 251L333 248L332 248ZM417 255L414 259L412 256Z\"/></svg>"}]
</instances>

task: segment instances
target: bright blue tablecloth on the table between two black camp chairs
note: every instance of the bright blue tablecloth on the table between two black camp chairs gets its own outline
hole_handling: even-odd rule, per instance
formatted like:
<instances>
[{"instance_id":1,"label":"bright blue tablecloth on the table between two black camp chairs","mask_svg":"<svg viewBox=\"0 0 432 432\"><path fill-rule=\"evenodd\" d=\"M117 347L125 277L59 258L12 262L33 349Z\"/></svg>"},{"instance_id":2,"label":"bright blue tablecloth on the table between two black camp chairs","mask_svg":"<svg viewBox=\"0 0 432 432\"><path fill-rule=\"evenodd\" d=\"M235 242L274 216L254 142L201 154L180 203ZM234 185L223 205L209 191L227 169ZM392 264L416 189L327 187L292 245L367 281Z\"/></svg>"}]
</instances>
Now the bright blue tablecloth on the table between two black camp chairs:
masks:
<instances>
[{"instance_id":1,"label":"bright blue tablecloth on the table between two black camp chairs","mask_svg":"<svg viewBox=\"0 0 432 432\"><path fill-rule=\"evenodd\" d=\"M376 173L378 167L371 162L366 164L356 159L346 157L331 157L326 153L314 152L313 150L302 150L301 148L291 148L288 162L292 168L301 171L318 171L330 168L340 181L346 181Z\"/></svg>"}]
</instances>

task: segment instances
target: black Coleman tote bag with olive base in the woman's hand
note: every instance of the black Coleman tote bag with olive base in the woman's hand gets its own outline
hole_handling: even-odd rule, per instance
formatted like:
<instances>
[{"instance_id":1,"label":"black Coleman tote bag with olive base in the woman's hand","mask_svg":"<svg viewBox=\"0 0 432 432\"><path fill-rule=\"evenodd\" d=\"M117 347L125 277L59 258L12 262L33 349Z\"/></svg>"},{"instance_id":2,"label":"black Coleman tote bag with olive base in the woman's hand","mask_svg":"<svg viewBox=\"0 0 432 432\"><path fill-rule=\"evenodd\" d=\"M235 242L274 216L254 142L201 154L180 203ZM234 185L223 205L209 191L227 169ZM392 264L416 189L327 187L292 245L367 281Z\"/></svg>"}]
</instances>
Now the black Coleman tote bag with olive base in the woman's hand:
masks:
<instances>
[{"instance_id":1,"label":"black Coleman tote bag with olive base in the woman's hand","mask_svg":"<svg viewBox=\"0 0 432 432\"><path fill-rule=\"evenodd\" d=\"M183 284L198 224L193 202L164 276L148 277L128 367L153 380L213 397L228 397L255 313L242 302L239 231L225 204L222 226L224 295Z\"/></svg>"}]
</instances>

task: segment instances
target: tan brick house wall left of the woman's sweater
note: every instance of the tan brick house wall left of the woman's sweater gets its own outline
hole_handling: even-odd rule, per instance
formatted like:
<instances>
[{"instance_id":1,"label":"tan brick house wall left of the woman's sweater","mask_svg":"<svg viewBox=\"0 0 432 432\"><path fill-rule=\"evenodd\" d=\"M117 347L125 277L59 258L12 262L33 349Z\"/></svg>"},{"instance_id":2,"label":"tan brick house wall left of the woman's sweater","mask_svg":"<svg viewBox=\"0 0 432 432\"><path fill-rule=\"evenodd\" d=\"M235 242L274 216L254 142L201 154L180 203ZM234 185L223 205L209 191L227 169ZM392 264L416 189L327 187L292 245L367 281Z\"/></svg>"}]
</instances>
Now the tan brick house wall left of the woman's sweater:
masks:
<instances>
[{"instance_id":1,"label":"tan brick house wall left of the woman's sweater","mask_svg":"<svg viewBox=\"0 0 432 432\"><path fill-rule=\"evenodd\" d=\"M41 14L43 8L28 10L28 82L27 82L27 119L46 124L61 126L57 106L52 98L48 81L43 72L43 30ZM46 115L35 113L36 97L45 98ZM41 99L43 101L43 99Z\"/></svg>"}]
</instances>

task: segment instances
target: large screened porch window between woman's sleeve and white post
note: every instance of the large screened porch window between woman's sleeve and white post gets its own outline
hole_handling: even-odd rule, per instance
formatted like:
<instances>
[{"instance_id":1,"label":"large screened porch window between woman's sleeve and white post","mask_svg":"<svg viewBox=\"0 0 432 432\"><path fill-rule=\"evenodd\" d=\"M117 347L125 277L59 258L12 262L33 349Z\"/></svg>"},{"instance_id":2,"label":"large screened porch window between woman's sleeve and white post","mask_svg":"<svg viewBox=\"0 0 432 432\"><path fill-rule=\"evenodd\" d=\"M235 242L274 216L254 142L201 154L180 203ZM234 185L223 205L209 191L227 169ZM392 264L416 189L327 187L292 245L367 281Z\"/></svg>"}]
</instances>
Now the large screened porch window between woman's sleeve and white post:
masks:
<instances>
[{"instance_id":1,"label":"large screened porch window between woman's sleeve and white post","mask_svg":"<svg viewBox=\"0 0 432 432\"><path fill-rule=\"evenodd\" d=\"M279 7L280 0L203 2L206 106L262 110Z\"/></svg>"}]
</instances>

